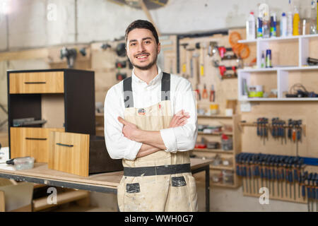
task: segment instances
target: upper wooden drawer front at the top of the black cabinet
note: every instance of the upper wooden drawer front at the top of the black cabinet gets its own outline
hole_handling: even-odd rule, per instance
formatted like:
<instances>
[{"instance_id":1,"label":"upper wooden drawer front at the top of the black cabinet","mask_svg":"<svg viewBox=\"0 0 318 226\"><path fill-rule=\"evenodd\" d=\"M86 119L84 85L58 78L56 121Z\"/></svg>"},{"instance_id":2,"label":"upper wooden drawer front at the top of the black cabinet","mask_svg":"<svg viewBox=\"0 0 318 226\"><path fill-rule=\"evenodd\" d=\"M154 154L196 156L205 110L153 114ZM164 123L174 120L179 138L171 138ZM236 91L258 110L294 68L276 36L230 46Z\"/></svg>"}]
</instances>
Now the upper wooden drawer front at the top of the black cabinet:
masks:
<instances>
[{"instance_id":1,"label":"upper wooden drawer front at the top of the black cabinet","mask_svg":"<svg viewBox=\"0 0 318 226\"><path fill-rule=\"evenodd\" d=\"M10 73L9 93L64 93L64 72Z\"/></svg>"}]
</instances>

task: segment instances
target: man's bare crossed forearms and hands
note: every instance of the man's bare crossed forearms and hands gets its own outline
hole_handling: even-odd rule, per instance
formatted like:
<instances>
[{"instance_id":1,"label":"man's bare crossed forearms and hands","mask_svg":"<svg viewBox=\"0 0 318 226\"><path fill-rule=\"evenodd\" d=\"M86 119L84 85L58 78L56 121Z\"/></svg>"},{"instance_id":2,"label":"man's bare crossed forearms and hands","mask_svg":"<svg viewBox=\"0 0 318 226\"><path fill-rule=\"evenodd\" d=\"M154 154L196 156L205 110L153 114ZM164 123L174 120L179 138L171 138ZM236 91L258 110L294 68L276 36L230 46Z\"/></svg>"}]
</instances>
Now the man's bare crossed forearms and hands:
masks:
<instances>
[{"instance_id":1,"label":"man's bare crossed forearms and hands","mask_svg":"<svg viewBox=\"0 0 318 226\"><path fill-rule=\"evenodd\" d=\"M172 117L169 128L187 124L187 119L189 119L189 117L188 112L184 112L183 110L177 112L177 114ZM136 157L143 157L155 153L158 150L166 149L160 131L144 131L138 129L135 124L122 119L122 117L118 117L118 121L124 125L122 133L126 138L129 138L131 141L143 143Z\"/></svg>"}]
</instances>

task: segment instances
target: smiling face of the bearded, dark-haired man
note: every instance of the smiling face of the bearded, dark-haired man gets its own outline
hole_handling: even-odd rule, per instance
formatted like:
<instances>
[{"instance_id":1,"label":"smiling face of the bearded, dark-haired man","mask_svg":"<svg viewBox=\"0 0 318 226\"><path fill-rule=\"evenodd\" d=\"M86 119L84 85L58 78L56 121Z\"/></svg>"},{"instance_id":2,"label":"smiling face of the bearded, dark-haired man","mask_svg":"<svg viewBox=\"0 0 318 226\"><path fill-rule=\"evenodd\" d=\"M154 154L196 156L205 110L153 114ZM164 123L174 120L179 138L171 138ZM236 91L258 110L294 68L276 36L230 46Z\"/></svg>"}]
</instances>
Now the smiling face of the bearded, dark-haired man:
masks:
<instances>
[{"instance_id":1,"label":"smiling face of the bearded, dark-haired man","mask_svg":"<svg viewBox=\"0 0 318 226\"><path fill-rule=\"evenodd\" d=\"M151 30L136 28L127 36L126 52L134 67L148 70L156 64L160 53L160 43L155 42Z\"/></svg>"}]
</instances>

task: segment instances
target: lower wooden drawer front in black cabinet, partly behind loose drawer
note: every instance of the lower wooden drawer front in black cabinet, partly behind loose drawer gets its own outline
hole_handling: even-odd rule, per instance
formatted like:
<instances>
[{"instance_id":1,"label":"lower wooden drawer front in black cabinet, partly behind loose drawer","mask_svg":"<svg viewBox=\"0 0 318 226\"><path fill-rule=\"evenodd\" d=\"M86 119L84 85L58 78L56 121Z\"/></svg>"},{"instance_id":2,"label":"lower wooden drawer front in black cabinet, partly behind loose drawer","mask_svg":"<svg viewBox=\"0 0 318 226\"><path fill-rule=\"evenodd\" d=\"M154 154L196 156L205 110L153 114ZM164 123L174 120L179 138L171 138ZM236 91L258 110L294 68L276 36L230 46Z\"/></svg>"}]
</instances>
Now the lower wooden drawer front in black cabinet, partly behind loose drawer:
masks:
<instances>
[{"instance_id":1,"label":"lower wooden drawer front in black cabinet, partly behind loose drawer","mask_svg":"<svg viewBox=\"0 0 318 226\"><path fill-rule=\"evenodd\" d=\"M64 128L11 127L11 158L31 156L36 162L49 162L49 131L64 131Z\"/></svg>"}]
</instances>

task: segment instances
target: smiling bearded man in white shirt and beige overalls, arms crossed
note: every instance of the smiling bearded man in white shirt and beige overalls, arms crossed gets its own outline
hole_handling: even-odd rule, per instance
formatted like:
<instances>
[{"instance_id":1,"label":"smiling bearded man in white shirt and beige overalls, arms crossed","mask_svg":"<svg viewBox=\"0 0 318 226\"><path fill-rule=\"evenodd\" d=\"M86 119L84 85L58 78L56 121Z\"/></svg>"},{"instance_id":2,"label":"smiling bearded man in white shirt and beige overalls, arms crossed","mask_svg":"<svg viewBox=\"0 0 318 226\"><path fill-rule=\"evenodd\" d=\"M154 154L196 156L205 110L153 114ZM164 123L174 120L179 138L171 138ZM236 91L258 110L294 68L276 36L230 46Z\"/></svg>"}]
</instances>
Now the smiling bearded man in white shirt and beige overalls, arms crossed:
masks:
<instances>
[{"instance_id":1,"label":"smiling bearded man in white shirt and beige overalls, arms crossed","mask_svg":"<svg viewBox=\"0 0 318 226\"><path fill-rule=\"evenodd\" d=\"M105 98L107 150L124 165L119 210L197 211L187 151L197 136L191 83L157 65L160 42L152 23L134 21L125 40L132 75Z\"/></svg>"}]
</instances>

